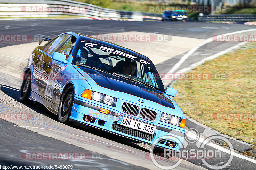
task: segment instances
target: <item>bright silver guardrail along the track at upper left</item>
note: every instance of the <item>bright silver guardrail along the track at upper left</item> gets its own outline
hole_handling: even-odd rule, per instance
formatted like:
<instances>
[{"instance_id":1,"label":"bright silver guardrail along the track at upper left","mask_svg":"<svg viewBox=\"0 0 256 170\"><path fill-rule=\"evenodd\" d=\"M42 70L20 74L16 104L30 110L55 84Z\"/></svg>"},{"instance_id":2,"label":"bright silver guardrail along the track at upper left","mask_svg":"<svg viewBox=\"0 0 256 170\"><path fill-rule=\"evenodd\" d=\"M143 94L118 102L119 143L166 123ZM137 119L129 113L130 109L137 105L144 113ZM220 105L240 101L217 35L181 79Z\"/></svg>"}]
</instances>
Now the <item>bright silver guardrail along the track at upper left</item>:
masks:
<instances>
[{"instance_id":1,"label":"bright silver guardrail along the track at upper left","mask_svg":"<svg viewBox=\"0 0 256 170\"><path fill-rule=\"evenodd\" d=\"M127 18L135 21L142 21L143 16L140 12L118 11L114 9L101 8L92 4L86 4L70 0L0 0L1 17L37 17L51 15L78 15L85 17L108 17L108 18ZM22 7L28 5L60 5L66 7L84 8L81 12L24 12Z\"/></svg>"}]
</instances>

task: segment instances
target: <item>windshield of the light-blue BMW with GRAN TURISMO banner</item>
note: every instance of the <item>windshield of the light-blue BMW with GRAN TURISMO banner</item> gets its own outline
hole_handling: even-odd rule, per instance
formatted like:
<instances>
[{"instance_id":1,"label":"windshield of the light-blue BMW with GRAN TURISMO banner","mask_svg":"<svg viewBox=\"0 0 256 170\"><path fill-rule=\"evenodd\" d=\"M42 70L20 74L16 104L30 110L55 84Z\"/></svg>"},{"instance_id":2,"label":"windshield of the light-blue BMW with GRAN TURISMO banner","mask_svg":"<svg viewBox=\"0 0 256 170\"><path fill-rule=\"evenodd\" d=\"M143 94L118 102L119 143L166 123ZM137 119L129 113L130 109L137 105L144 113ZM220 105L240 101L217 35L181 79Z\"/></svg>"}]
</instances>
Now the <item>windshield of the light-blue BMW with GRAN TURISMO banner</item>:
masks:
<instances>
[{"instance_id":1,"label":"windshield of the light-blue BMW with GRAN TURISMO banner","mask_svg":"<svg viewBox=\"0 0 256 170\"><path fill-rule=\"evenodd\" d=\"M164 91L159 74L149 60L97 42L81 40L76 53L76 64L102 70L130 81Z\"/></svg>"}]
</instances>

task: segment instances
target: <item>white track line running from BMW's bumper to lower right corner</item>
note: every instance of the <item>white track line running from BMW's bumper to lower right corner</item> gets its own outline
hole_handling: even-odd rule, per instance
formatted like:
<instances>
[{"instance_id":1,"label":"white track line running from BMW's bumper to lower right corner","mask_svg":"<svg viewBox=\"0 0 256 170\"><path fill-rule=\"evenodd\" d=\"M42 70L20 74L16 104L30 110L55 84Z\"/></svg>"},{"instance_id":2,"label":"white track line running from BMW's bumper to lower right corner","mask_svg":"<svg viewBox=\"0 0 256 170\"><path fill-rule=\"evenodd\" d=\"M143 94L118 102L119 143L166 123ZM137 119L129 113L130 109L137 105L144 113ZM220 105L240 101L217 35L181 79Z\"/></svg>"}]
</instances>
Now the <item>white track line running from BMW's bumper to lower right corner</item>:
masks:
<instances>
[{"instance_id":1,"label":"white track line running from BMW's bumper to lower right corner","mask_svg":"<svg viewBox=\"0 0 256 170\"><path fill-rule=\"evenodd\" d=\"M197 134L197 135L198 135L198 134ZM194 134L194 133L188 133L188 134L187 134L187 136L188 136L188 137L191 137L192 139L196 139L196 138L197 138L197 135ZM244 160L248 160L248 161L250 161L250 162L256 164L256 160L255 160L255 159L248 158L248 157L246 157L246 156L244 156L244 155L240 155L240 154L235 153L235 152L231 152L230 150L228 150L228 149L226 149L226 148L223 148L223 147L221 147L221 146L219 146L219 145L217 145L217 144L213 144L212 142L207 143L209 140L206 140L206 139L203 139L203 138L199 137L198 141L199 141L200 143L205 143L206 145L208 145L208 146L210 146L210 147L213 147L213 148L215 148L215 149L218 149L218 150L220 150L220 151L222 151L222 152L225 152L225 153L228 153L228 154L232 154L232 155L234 155L234 156L236 156L236 157L238 157L238 158L241 158L241 159L244 159Z\"/></svg>"}]
</instances>

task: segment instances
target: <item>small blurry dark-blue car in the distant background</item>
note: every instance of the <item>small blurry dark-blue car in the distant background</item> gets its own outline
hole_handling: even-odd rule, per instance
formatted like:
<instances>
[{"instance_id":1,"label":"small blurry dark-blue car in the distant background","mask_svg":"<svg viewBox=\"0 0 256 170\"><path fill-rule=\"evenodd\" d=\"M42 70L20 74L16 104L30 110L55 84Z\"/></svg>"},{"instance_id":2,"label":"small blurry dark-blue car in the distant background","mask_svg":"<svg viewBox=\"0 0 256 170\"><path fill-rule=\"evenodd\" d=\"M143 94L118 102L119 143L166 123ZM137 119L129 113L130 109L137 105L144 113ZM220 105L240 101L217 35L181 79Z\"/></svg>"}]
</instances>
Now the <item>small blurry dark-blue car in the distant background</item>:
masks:
<instances>
[{"instance_id":1,"label":"small blurry dark-blue car in the distant background","mask_svg":"<svg viewBox=\"0 0 256 170\"><path fill-rule=\"evenodd\" d=\"M162 21L170 20L170 21L188 21L188 15L184 10L172 10L165 11L162 15Z\"/></svg>"}]
</instances>

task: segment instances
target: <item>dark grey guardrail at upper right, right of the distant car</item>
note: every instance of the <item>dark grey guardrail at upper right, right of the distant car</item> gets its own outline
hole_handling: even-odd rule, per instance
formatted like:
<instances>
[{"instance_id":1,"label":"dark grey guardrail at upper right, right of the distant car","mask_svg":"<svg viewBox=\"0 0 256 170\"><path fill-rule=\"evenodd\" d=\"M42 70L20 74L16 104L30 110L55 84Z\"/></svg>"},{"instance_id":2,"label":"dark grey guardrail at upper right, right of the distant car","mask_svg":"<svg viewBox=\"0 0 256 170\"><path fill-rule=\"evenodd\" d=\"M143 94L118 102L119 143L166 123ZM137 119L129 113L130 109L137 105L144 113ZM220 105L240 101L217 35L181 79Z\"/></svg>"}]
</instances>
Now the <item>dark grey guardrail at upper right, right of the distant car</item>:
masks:
<instances>
[{"instance_id":1,"label":"dark grey guardrail at upper right, right of the distant car","mask_svg":"<svg viewBox=\"0 0 256 170\"><path fill-rule=\"evenodd\" d=\"M198 21L256 21L256 14L204 15Z\"/></svg>"}]
</instances>

